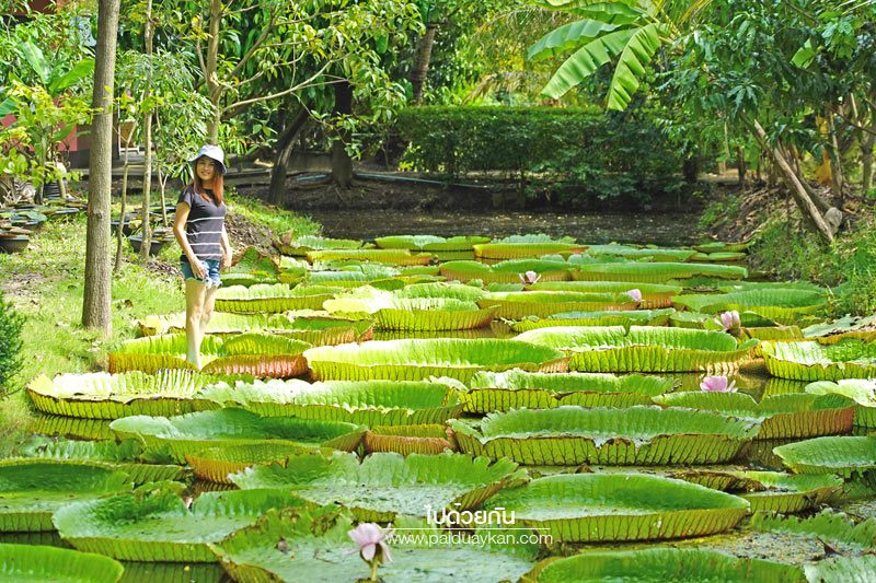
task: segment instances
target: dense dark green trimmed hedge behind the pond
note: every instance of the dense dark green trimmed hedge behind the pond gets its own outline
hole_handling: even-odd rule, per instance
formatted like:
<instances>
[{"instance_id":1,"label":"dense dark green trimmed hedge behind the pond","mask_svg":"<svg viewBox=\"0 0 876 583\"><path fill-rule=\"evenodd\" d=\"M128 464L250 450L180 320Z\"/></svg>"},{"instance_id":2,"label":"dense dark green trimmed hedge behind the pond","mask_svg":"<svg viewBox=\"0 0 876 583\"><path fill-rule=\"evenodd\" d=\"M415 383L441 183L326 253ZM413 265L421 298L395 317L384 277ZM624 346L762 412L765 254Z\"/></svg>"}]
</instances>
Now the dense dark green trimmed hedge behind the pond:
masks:
<instances>
[{"instance_id":1,"label":"dense dark green trimmed hedge behind the pond","mask_svg":"<svg viewBox=\"0 0 876 583\"><path fill-rule=\"evenodd\" d=\"M641 109L416 107L401 113L397 128L413 143L406 158L417 168L453 178L502 171L521 187L535 174L562 202L647 202L680 186L675 150Z\"/></svg>"}]
</instances>

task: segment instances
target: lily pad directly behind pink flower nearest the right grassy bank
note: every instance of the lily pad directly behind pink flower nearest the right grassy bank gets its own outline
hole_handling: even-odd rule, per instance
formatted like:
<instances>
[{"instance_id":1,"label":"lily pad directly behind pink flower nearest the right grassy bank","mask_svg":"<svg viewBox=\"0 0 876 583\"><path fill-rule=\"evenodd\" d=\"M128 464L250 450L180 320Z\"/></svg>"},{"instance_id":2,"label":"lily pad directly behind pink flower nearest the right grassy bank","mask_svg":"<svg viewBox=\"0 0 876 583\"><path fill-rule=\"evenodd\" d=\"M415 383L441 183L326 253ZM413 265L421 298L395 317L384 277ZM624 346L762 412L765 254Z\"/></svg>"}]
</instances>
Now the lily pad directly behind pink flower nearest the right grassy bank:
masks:
<instances>
[{"instance_id":1,"label":"lily pad directly behind pink flower nearest the right grassy bank","mask_svg":"<svg viewBox=\"0 0 876 583\"><path fill-rule=\"evenodd\" d=\"M795 324L800 316L822 311L826 303L827 299L819 291L794 289L690 294L679 295L675 299L677 310L687 308L703 314L719 314L727 311L749 312L784 325Z\"/></svg>"}]
</instances>

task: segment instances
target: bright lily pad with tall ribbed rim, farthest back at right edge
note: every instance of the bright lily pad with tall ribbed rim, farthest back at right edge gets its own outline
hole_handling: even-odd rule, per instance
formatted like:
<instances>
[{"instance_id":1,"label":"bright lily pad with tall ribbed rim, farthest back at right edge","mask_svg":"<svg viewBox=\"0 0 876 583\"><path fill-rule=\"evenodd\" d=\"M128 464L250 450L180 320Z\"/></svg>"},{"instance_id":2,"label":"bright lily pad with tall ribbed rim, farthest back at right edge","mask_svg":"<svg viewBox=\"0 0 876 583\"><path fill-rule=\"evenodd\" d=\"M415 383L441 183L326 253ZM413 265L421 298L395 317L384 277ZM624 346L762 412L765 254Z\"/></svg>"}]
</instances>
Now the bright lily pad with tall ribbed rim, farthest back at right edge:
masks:
<instances>
[{"instance_id":1,"label":"bright lily pad with tall ribbed rim, farthest back at right edge","mask_svg":"<svg viewBox=\"0 0 876 583\"><path fill-rule=\"evenodd\" d=\"M835 343L816 341L761 342L766 370L793 381L839 381L876 376L876 341L844 338Z\"/></svg>"}]
</instances>

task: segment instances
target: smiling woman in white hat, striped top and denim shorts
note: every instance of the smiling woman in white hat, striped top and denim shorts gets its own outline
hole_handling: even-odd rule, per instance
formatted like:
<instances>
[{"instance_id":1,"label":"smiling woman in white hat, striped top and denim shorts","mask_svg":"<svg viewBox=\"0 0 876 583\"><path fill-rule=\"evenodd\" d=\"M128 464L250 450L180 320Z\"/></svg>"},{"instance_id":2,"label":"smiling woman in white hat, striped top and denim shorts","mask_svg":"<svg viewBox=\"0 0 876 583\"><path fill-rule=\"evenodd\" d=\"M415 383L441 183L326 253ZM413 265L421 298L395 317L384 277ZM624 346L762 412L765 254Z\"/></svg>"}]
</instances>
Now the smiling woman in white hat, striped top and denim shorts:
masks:
<instances>
[{"instance_id":1,"label":"smiling woman in white hat, striped top and denim shorts","mask_svg":"<svg viewBox=\"0 0 876 583\"><path fill-rule=\"evenodd\" d=\"M200 369L200 343L221 284L219 268L231 265L231 245L226 233L222 149L205 145L189 162L195 178L176 201L173 234L183 249L180 268L185 278L186 358Z\"/></svg>"}]
</instances>

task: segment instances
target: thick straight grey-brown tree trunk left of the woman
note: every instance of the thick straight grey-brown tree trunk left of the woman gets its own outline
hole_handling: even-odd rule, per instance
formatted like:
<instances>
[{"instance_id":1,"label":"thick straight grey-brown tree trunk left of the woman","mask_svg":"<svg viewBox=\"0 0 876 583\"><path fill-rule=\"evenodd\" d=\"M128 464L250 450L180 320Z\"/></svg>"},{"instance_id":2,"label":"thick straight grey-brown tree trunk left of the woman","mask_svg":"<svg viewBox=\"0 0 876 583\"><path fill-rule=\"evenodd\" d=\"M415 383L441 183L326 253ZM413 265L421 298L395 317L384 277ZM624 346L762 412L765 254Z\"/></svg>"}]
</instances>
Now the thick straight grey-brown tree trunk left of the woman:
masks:
<instances>
[{"instance_id":1,"label":"thick straight grey-brown tree trunk left of the woman","mask_svg":"<svg viewBox=\"0 0 876 583\"><path fill-rule=\"evenodd\" d=\"M113 184L113 86L119 0L100 0L97 47L89 155L89 212L85 243L85 289L82 325L110 335L113 330L110 265L110 203Z\"/></svg>"}]
</instances>

